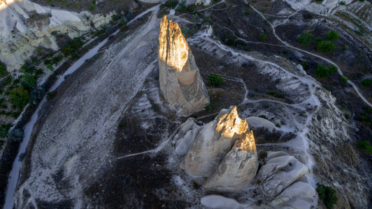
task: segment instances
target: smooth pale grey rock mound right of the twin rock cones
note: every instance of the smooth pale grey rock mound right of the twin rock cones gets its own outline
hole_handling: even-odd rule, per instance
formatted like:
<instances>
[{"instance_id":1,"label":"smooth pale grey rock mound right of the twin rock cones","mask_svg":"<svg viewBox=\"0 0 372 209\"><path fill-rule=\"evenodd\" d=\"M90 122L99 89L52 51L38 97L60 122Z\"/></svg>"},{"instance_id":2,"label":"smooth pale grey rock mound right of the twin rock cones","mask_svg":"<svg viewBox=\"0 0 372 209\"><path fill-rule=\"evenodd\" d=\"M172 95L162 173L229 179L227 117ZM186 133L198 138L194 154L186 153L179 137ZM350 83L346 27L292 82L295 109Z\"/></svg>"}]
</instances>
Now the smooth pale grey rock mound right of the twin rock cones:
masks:
<instances>
[{"instance_id":1,"label":"smooth pale grey rock mound right of the twin rock cones","mask_svg":"<svg viewBox=\"0 0 372 209\"><path fill-rule=\"evenodd\" d=\"M259 169L257 178L268 196L277 196L289 185L309 173L308 167L285 152L268 152L268 162Z\"/></svg>"}]
</instances>

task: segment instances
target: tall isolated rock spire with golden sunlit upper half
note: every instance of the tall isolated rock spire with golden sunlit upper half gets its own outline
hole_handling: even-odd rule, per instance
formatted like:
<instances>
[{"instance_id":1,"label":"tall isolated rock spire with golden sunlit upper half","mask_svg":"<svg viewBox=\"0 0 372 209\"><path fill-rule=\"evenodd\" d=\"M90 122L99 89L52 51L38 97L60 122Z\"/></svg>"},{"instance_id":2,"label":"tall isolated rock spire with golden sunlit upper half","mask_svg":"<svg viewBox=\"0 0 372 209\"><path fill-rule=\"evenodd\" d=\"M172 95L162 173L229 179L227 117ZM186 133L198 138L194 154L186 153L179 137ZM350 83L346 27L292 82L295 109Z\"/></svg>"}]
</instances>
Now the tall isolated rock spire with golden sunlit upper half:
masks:
<instances>
[{"instance_id":1,"label":"tall isolated rock spire with golden sunlit upper half","mask_svg":"<svg viewBox=\"0 0 372 209\"><path fill-rule=\"evenodd\" d=\"M209 103L206 85L178 24L164 15L159 34L160 89L179 116L189 116Z\"/></svg>"}]
</instances>

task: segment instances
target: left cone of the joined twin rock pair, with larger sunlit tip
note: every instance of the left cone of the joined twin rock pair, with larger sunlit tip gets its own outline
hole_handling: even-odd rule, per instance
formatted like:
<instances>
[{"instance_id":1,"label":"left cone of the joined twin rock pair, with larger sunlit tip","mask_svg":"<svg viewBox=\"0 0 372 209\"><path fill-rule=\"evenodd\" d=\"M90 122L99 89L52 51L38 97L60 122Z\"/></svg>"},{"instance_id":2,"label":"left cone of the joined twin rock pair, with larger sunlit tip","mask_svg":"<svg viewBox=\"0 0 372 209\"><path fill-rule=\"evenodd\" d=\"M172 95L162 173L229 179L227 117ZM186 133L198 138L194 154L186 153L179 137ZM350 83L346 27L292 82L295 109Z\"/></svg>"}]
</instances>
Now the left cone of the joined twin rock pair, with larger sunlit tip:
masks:
<instances>
[{"instance_id":1,"label":"left cone of the joined twin rock pair, with larger sunlit tip","mask_svg":"<svg viewBox=\"0 0 372 209\"><path fill-rule=\"evenodd\" d=\"M215 120L199 130L181 167L192 176L211 176L234 142L248 132L248 123L239 118L236 107L222 109Z\"/></svg>"}]
</instances>

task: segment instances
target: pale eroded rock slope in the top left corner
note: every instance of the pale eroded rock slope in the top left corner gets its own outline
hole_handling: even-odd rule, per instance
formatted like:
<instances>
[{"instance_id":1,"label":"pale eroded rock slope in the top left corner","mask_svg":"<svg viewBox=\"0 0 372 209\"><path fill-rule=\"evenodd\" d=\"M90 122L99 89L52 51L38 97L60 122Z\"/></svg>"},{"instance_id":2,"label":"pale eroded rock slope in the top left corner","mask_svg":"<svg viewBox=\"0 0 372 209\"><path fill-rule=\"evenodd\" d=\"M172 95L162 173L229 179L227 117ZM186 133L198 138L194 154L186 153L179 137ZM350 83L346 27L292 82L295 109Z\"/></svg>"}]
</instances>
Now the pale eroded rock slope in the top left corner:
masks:
<instances>
[{"instance_id":1,"label":"pale eroded rock slope in the top left corner","mask_svg":"<svg viewBox=\"0 0 372 209\"><path fill-rule=\"evenodd\" d=\"M13 72L34 54L36 47L58 49L53 31L74 38L91 29L90 21L99 22L95 26L108 24L111 15L78 14L28 0L0 0L0 60Z\"/></svg>"}]
</instances>

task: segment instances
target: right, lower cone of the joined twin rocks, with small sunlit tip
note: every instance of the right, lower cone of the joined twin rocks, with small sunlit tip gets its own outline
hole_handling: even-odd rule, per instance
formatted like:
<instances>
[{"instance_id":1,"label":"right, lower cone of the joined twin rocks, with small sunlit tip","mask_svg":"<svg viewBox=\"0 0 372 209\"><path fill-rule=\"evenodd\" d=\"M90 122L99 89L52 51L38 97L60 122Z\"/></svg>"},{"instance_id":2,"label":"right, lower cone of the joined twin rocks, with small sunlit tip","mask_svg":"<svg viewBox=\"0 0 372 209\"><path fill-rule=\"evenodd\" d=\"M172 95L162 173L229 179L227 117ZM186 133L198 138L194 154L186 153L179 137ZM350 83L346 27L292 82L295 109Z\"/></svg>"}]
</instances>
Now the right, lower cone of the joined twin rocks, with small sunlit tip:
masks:
<instances>
[{"instance_id":1,"label":"right, lower cone of the joined twin rocks, with small sunlit tip","mask_svg":"<svg viewBox=\"0 0 372 209\"><path fill-rule=\"evenodd\" d=\"M253 132L246 132L243 139L235 141L235 145L217 171L203 184L204 189L218 192L239 192L256 176L258 169L257 150Z\"/></svg>"}]
</instances>

